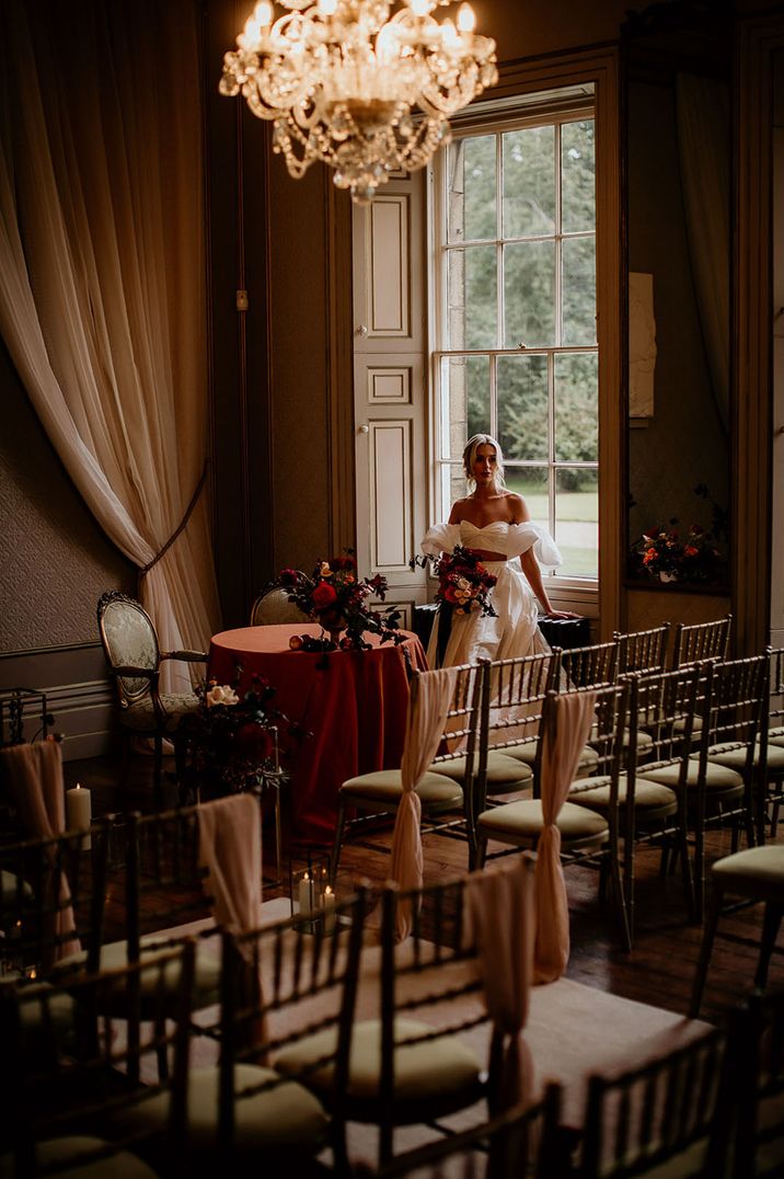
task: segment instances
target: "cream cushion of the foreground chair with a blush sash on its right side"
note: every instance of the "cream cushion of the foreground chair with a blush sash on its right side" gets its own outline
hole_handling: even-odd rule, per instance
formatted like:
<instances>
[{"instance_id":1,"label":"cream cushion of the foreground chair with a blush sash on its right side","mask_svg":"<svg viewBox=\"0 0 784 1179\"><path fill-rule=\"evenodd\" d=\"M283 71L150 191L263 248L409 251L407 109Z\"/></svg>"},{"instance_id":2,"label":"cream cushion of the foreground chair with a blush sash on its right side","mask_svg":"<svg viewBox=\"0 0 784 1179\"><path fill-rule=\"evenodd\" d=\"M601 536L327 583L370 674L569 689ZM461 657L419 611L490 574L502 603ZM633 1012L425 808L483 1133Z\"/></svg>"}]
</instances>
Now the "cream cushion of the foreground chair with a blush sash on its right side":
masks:
<instances>
[{"instance_id":1,"label":"cream cushion of the foreground chair with a blush sash on its right side","mask_svg":"<svg viewBox=\"0 0 784 1179\"><path fill-rule=\"evenodd\" d=\"M395 1020L395 1098L401 1102L446 1100L472 1089L480 1081L482 1066L472 1050L456 1035L434 1039L433 1028L416 1020ZM275 1059L282 1073L299 1073L321 1056L335 1053L337 1032L328 1028L285 1048ZM308 1076L308 1085L317 1093L328 1093L332 1086L331 1061ZM378 1093L381 1075L381 1021L356 1023L351 1036L349 1061L349 1096L373 1100ZM420 1111L421 1112L421 1111Z\"/></svg>"}]
</instances>

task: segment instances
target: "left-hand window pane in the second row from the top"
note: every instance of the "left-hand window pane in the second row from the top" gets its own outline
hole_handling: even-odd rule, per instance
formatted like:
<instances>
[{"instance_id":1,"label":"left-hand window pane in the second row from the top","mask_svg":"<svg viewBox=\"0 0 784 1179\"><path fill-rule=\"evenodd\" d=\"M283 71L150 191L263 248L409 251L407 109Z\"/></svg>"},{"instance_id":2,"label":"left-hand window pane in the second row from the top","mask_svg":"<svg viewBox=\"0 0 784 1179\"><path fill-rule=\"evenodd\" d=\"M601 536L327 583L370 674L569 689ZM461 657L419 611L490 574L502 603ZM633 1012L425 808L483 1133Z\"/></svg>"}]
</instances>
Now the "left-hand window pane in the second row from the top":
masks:
<instances>
[{"instance_id":1,"label":"left-hand window pane in the second row from the top","mask_svg":"<svg viewBox=\"0 0 784 1179\"><path fill-rule=\"evenodd\" d=\"M498 282L494 245L449 251L448 348L495 348Z\"/></svg>"}]
</instances>

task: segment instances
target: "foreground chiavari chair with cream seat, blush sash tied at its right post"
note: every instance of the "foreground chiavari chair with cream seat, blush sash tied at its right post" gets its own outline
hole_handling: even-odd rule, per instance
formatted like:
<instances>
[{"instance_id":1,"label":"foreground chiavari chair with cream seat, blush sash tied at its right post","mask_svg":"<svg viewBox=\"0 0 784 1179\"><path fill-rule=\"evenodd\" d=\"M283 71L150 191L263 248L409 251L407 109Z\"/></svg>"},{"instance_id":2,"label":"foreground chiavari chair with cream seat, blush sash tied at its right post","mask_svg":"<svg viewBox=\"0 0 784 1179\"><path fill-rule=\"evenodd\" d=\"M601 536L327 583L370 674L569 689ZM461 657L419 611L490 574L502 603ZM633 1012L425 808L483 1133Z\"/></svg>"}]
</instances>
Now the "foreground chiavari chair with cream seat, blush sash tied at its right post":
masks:
<instances>
[{"instance_id":1,"label":"foreground chiavari chair with cream seat, blush sash tied at its right post","mask_svg":"<svg viewBox=\"0 0 784 1179\"><path fill-rule=\"evenodd\" d=\"M531 875L531 865L521 863L515 884L532 888ZM481 887L469 876L416 891L384 889L380 947L365 947L358 963L348 1065L341 1068L340 1055L332 1063L335 1029L276 1056L281 1071L297 1075L323 1101L336 1127L347 1121L377 1127L380 1167L404 1158L395 1148L398 1127L427 1125L448 1133L441 1119L460 1109L481 1102L477 1120L485 1121L485 1102L500 1098L499 1108L506 1108L503 1036L492 1036L489 1027L476 1036L490 1016L475 922L466 921L467 890L474 884ZM403 942L397 941L400 904L413 915ZM523 940L526 933L518 936ZM531 949L533 923L528 938Z\"/></svg>"}]
</instances>

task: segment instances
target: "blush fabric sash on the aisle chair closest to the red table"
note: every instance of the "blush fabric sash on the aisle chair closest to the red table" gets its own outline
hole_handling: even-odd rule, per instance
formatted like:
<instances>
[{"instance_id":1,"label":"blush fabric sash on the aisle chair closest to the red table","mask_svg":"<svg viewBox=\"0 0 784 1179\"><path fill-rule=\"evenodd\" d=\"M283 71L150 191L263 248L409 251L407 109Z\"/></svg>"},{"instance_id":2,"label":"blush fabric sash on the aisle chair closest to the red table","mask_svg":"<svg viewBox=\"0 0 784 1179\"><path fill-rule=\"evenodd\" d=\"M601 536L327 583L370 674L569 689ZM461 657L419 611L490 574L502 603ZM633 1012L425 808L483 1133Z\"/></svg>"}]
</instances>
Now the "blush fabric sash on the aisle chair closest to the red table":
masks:
<instances>
[{"instance_id":1,"label":"blush fabric sash on the aisle chair closest to the red table","mask_svg":"<svg viewBox=\"0 0 784 1179\"><path fill-rule=\"evenodd\" d=\"M422 888L422 804L416 785L435 757L455 691L456 667L421 672L411 684L400 773L403 797L395 817L389 875L401 889ZM396 907L400 941L411 931L410 903Z\"/></svg>"}]
</instances>

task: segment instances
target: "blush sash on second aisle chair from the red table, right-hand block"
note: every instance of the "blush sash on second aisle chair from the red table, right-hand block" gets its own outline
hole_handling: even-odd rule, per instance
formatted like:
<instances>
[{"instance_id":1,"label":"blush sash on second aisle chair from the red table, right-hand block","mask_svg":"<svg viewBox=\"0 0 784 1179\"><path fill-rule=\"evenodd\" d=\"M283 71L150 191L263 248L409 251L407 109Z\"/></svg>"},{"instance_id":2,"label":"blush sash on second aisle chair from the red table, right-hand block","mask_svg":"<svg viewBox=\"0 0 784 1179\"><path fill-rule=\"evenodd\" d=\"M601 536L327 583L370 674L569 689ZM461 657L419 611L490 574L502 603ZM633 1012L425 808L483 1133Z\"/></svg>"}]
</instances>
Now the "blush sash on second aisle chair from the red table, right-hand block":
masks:
<instances>
[{"instance_id":1,"label":"blush sash on second aisle chair from the red table, right-hand block","mask_svg":"<svg viewBox=\"0 0 784 1179\"><path fill-rule=\"evenodd\" d=\"M554 712L542 735L541 804L543 829L536 845L536 943L534 982L554 982L569 960L569 910L556 823L591 733L595 692L552 698Z\"/></svg>"}]
</instances>

